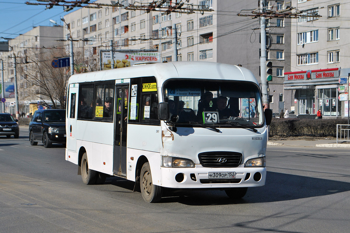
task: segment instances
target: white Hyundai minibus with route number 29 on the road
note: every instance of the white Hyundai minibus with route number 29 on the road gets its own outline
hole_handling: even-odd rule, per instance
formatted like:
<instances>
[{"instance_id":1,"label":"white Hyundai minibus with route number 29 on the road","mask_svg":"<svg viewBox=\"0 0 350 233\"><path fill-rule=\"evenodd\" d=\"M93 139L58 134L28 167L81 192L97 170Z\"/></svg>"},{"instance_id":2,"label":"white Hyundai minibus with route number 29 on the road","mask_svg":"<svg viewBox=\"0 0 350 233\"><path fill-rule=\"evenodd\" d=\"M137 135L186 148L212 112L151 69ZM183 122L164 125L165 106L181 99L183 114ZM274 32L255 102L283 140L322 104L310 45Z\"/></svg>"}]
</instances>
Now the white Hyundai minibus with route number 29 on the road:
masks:
<instances>
[{"instance_id":1,"label":"white Hyundai minibus with route number 29 on the road","mask_svg":"<svg viewBox=\"0 0 350 233\"><path fill-rule=\"evenodd\" d=\"M164 189L218 189L241 198L265 184L267 125L252 72L168 62L69 78L65 159L85 184L118 176L146 202Z\"/></svg>"}]
</instances>

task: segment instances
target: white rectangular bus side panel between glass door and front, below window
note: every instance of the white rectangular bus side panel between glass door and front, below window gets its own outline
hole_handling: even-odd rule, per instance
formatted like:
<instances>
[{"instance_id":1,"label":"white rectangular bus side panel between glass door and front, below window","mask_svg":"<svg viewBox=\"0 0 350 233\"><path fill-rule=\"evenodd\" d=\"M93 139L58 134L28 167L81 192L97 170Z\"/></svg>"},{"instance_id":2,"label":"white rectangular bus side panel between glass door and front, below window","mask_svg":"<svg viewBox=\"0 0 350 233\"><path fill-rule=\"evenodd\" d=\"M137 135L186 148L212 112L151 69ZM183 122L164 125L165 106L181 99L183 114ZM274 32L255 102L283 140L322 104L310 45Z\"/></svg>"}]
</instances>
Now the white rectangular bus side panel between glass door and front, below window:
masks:
<instances>
[{"instance_id":1,"label":"white rectangular bus side panel between glass door and front, below window","mask_svg":"<svg viewBox=\"0 0 350 233\"><path fill-rule=\"evenodd\" d=\"M162 147L161 127L154 125L128 124L127 148L160 152Z\"/></svg>"}]
</instances>

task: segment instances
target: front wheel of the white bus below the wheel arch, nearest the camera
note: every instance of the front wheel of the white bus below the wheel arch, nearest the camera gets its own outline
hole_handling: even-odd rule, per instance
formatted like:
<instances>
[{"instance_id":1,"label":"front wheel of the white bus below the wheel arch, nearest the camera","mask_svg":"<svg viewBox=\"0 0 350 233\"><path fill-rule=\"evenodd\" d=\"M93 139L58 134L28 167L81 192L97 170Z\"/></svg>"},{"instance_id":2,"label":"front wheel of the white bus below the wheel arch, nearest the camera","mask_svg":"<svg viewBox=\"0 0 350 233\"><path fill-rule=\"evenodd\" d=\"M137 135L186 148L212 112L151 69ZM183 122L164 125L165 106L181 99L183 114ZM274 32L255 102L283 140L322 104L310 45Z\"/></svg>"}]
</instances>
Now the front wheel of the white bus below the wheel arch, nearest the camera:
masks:
<instances>
[{"instance_id":1,"label":"front wheel of the white bus below the wheel arch, nearest the camera","mask_svg":"<svg viewBox=\"0 0 350 233\"><path fill-rule=\"evenodd\" d=\"M163 189L161 186L152 183L151 168L148 162L141 169L140 188L142 197L148 203L159 202L162 198Z\"/></svg>"}]
</instances>

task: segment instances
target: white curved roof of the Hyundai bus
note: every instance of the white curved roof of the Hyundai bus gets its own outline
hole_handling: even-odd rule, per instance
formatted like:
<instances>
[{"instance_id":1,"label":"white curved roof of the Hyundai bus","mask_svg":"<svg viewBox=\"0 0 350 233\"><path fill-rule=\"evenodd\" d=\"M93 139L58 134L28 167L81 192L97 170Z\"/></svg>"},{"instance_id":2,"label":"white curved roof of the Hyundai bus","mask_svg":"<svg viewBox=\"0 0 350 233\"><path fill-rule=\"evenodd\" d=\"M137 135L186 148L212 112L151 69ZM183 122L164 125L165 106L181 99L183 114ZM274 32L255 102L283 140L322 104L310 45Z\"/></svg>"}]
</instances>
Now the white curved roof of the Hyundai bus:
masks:
<instances>
[{"instance_id":1,"label":"white curved roof of the Hyundai bus","mask_svg":"<svg viewBox=\"0 0 350 233\"><path fill-rule=\"evenodd\" d=\"M69 83L155 76L158 86L170 78L250 81L258 84L253 73L241 66L215 62L166 62L72 75Z\"/></svg>"}]
</instances>

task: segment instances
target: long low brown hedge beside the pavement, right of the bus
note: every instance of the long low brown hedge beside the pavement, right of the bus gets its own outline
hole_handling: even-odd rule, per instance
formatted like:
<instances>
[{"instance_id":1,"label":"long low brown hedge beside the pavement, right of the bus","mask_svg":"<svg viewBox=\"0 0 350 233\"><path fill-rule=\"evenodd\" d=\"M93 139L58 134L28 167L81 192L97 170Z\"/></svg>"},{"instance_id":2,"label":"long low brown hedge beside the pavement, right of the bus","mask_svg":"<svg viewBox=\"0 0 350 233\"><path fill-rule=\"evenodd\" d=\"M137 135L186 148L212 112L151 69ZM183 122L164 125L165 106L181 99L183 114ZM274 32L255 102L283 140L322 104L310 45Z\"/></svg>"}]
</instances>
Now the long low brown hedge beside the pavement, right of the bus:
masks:
<instances>
[{"instance_id":1,"label":"long low brown hedge beside the pavement, right of the bus","mask_svg":"<svg viewBox=\"0 0 350 233\"><path fill-rule=\"evenodd\" d=\"M348 119L284 119L272 118L270 136L336 137L337 124L347 124Z\"/></svg>"}]
</instances>

